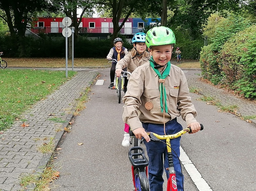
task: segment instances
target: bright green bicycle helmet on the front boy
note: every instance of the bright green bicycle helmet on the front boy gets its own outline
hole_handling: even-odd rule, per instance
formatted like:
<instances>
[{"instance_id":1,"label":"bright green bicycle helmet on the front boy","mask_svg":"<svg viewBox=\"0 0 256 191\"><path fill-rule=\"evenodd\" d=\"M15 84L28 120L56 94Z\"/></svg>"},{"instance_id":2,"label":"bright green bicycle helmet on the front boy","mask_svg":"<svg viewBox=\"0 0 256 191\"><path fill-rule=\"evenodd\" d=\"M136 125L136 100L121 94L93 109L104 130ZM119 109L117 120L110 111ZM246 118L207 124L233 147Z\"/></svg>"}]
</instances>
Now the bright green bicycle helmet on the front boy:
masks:
<instances>
[{"instance_id":1,"label":"bright green bicycle helmet on the front boy","mask_svg":"<svg viewBox=\"0 0 256 191\"><path fill-rule=\"evenodd\" d=\"M165 26L156 26L146 34L146 45L148 48L158 45L175 44L176 39L171 29Z\"/></svg>"}]
</instances>

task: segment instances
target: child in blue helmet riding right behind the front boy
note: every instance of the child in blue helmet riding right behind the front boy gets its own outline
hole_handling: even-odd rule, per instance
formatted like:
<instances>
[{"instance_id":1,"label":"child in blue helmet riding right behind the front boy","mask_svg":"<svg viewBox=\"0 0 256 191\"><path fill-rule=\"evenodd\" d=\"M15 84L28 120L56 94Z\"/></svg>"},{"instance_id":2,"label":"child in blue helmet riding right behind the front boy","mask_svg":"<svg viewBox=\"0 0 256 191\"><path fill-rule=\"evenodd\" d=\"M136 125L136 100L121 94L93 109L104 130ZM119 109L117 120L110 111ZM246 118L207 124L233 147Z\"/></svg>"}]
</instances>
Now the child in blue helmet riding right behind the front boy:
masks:
<instances>
[{"instance_id":1,"label":"child in blue helmet riding right behind the front boy","mask_svg":"<svg viewBox=\"0 0 256 191\"><path fill-rule=\"evenodd\" d=\"M146 51L145 44L145 33L136 33L132 38L133 49L124 56L123 59L117 62L116 65L116 75L119 77L123 68L127 67L128 72L133 72L138 66L148 63L148 59L150 58L149 53ZM125 87L124 93L127 91ZM122 145L124 147L130 146L130 135L129 135L130 127L129 125L124 125L124 137L122 141Z\"/></svg>"}]
</instances>

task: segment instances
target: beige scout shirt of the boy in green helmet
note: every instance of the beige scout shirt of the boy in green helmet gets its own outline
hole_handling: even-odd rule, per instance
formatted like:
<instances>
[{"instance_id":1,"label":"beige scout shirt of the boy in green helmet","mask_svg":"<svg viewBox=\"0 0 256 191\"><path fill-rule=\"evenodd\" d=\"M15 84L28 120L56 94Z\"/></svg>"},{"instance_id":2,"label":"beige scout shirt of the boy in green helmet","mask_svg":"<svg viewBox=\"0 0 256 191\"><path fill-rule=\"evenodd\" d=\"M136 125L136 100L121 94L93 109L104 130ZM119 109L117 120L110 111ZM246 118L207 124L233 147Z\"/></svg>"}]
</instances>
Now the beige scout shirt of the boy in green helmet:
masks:
<instances>
[{"instance_id":1,"label":"beige scout shirt of the boy in green helmet","mask_svg":"<svg viewBox=\"0 0 256 191\"><path fill-rule=\"evenodd\" d=\"M168 113L163 113L160 108L159 77L148 64L137 67L132 73L127 86L127 92L123 97L124 112L123 121L130 125L131 129L142 127L143 123L164 124L182 116L187 125L196 122L196 110L189 96L189 89L183 71L171 65L169 76L165 78L166 101ZM145 103L151 102L153 108L147 110Z\"/></svg>"}]
</instances>

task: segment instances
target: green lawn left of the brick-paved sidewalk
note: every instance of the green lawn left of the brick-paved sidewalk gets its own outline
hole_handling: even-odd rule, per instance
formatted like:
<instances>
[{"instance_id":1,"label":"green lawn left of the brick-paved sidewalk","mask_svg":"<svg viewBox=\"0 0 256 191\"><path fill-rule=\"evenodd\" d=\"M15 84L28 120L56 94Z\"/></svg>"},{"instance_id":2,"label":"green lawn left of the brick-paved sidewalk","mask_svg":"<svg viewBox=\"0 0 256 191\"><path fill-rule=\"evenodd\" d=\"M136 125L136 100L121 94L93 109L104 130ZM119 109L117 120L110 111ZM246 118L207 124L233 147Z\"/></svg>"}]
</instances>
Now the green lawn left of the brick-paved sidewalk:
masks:
<instances>
[{"instance_id":1,"label":"green lawn left of the brick-paved sidewalk","mask_svg":"<svg viewBox=\"0 0 256 191\"><path fill-rule=\"evenodd\" d=\"M74 74L76 72L69 71L68 79ZM68 79L62 71L1 69L0 130L9 128L23 111L44 99Z\"/></svg>"}]
</instances>

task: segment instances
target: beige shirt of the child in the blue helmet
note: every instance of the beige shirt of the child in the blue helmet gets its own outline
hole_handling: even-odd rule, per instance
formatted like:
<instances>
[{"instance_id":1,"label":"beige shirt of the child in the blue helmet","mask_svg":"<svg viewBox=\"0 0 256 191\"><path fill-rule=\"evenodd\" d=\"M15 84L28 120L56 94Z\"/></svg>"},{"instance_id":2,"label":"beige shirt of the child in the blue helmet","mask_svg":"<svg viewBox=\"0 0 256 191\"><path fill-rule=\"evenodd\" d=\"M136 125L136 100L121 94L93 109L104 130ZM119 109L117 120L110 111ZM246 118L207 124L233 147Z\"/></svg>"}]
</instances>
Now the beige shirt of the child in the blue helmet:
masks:
<instances>
[{"instance_id":1,"label":"beige shirt of the child in the blue helmet","mask_svg":"<svg viewBox=\"0 0 256 191\"><path fill-rule=\"evenodd\" d=\"M123 59L119 60L116 65L116 69L123 69L127 67L128 72L133 72L138 66L148 63L148 59L150 58L149 53L146 51L146 57L142 56L139 60L137 56L132 58L131 52L126 54Z\"/></svg>"}]
</instances>

